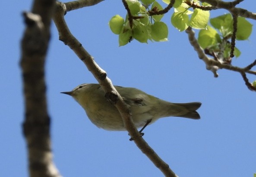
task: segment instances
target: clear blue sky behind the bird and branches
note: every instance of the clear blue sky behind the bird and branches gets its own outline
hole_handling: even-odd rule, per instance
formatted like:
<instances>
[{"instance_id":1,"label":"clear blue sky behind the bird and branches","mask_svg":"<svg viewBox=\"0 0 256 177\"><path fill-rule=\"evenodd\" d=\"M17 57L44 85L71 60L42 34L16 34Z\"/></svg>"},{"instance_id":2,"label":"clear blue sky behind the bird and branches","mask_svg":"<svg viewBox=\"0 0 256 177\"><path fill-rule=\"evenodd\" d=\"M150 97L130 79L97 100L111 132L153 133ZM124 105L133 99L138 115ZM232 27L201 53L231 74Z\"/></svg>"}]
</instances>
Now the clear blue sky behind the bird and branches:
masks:
<instances>
[{"instance_id":1,"label":"clear blue sky behind the bird and branches","mask_svg":"<svg viewBox=\"0 0 256 177\"><path fill-rule=\"evenodd\" d=\"M3 1L1 9L0 176L5 177L28 176L21 127L24 106L19 44L24 31L21 12L29 10L31 3ZM247 0L239 6L255 11L253 4ZM211 17L225 12L217 10ZM123 47L118 47L118 36L107 24L116 14L126 14L121 1L105 0L68 12L65 18L73 35L114 85L136 87L171 102L202 102L200 120L169 117L148 126L144 139L149 145L180 177L252 177L256 172L256 93L247 89L239 73L219 70L219 77L214 78L198 59L186 33L171 27L171 13L163 19L169 27L168 42L142 44L133 40ZM245 67L256 59L253 30L248 41L237 41L242 54L233 59L234 65ZM97 128L79 104L60 94L97 81L58 40L53 23L51 32L47 101L54 162L60 173L65 177L161 177L158 168L129 141L126 131Z\"/></svg>"}]
</instances>

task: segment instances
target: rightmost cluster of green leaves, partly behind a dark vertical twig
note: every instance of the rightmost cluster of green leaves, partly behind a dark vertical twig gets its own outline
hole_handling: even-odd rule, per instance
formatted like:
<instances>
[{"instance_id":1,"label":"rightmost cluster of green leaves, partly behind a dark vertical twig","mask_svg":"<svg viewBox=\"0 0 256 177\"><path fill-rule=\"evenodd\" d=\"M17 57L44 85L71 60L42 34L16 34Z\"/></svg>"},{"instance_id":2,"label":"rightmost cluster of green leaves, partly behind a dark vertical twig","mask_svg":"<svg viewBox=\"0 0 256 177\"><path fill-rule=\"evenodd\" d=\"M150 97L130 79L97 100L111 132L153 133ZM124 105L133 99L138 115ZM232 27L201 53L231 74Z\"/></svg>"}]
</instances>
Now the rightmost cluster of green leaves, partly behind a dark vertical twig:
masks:
<instances>
[{"instance_id":1,"label":"rightmost cluster of green leaves, partly behind a dark vertical twig","mask_svg":"<svg viewBox=\"0 0 256 177\"><path fill-rule=\"evenodd\" d=\"M231 37L234 32L234 20L231 14L225 14L210 19L211 26L199 31L199 45L207 50L207 54L218 56L223 53L223 61L228 61L231 54ZM253 25L243 17L237 18L236 40L248 40ZM234 47L234 55L239 57L240 50Z\"/></svg>"}]
</instances>

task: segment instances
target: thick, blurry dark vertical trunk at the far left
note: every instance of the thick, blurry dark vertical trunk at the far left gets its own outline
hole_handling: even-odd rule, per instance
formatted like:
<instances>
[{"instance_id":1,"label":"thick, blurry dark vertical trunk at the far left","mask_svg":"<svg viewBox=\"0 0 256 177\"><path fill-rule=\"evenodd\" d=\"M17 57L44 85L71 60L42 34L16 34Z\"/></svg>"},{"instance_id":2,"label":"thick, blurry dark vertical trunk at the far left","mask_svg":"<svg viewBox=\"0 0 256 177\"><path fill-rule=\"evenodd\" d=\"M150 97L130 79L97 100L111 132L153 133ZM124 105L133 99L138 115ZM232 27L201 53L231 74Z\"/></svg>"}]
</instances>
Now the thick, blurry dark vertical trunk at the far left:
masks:
<instances>
[{"instance_id":1,"label":"thick, blurry dark vertical trunk at the far left","mask_svg":"<svg viewBox=\"0 0 256 177\"><path fill-rule=\"evenodd\" d=\"M52 161L50 117L47 113L44 63L50 39L55 0L35 0L32 12L23 12L26 29L21 48L25 119L23 134L28 147L31 177L60 177Z\"/></svg>"}]
</instances>

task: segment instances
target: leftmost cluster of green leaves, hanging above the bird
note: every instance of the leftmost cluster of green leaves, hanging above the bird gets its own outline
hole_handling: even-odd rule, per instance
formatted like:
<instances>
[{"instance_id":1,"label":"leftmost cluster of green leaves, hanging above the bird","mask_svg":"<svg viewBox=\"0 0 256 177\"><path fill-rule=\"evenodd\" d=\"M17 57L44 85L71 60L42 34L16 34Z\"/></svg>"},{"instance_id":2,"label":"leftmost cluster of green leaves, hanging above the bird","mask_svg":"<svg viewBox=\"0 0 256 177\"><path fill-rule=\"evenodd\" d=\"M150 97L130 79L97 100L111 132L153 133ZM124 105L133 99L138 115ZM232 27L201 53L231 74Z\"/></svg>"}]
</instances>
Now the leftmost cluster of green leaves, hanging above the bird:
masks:
<instances>
[{"instance_id":1,"label":"leftmost cluster of green leaves, hanging above the bird","mask_svg":"<svg viewBox=\"0 0 256 177\"><path fill-rule=\"evenodd\" d=\"M132 25L127 13L123 19L120 15L114 15L109 21L109 26L114 34L119 35L119 46L124 46L131 40L136 39L141 43L151 41L167 41L168 27L160 21L163 15L149 15L149 10L159 11L162 6L155 0L126 0L130 14L133 16ZM149 4L152 3L151 9Z\"/></svg>"}]
</instances>

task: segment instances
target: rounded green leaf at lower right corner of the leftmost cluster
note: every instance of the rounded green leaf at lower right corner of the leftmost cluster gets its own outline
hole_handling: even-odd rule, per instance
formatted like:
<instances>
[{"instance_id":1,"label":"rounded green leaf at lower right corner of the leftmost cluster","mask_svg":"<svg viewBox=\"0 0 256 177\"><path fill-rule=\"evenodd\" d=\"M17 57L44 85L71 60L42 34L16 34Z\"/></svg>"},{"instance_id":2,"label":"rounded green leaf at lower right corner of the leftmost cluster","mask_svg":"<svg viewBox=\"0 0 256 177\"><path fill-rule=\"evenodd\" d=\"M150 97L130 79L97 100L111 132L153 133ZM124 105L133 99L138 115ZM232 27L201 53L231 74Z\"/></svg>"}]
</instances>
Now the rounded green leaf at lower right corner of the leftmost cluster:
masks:
<instances>
[{"instance_id":1,"label":"rounded green leaf at lower right corner of the leftmost cluster","mask_svg":"<svg viewBox=\"0 0 256 177\"><path fill-rule=\"evenodd\" d=\"M155 41L167 41L168 27L162 21L156 21L151 26L151 37Z\"/></svg>"}]
</instances>

